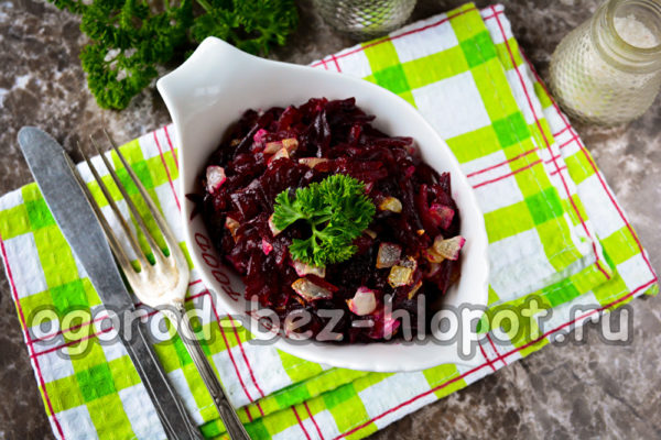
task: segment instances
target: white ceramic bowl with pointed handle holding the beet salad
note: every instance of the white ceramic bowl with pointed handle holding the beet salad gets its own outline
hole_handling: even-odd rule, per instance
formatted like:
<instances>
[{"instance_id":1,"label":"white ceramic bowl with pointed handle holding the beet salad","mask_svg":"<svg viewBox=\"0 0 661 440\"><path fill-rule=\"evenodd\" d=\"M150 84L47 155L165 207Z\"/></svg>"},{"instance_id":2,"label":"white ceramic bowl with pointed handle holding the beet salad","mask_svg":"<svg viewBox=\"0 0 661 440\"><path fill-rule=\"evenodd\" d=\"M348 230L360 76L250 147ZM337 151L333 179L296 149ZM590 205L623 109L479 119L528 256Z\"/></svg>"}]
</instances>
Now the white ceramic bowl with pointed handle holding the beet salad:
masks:
<instances>
[{"instance_id":1,"label":"white ceramic bowl with pointed handle holding the beet salad","mask_svg":"<svg viewBox=\"0 0 661 440\"><path fill-rule=\"evenodd\" d=\"M373 124L378 129L391 135L412 136L432 167L440 173L451 173L453 197L462 216L462 235L467 241L462 251L462 277L446 294L444 307L486 306L487 237L475 195L445 142L403 99L347 75L254 57L213 37L205 40L176 70L161 78L158 88L174 122L180 145L182 195L195 191L196 179L209 154L218 146L228 125L246 109L297 105L312 97L356 97L360 108L377 116ZM256 321L246 314L249 305L242 296L243 283L209 245L201 216L191 220L193 202L185 197L181 200L185 200L182 212L185 239L195 266L202 271L203 282L218 293L217 300L227 312L251 319L253 331ZM464 340L466 337L464 334ZM468 337L475 340L476 336ZM473 355L466 358L459 355L458 341L440 344L431 337L418 343L344 345L275 338L274 344L313 362L365 371L416 371L443 363L472 365L483 361L475 348Z\"/></svg>"}]
</instances>

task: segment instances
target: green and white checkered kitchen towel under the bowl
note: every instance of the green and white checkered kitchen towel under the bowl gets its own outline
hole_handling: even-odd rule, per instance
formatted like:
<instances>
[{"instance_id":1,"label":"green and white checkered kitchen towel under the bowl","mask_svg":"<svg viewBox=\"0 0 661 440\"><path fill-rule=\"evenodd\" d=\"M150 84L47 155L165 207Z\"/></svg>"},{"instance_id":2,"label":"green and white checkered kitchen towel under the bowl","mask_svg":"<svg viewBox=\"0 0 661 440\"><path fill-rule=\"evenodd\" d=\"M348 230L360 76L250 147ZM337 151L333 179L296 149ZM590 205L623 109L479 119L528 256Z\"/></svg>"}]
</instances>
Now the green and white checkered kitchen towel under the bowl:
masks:
<instances>
[{"instance_id":1,"label":"green and white checkered kitchen towel under the bowl","mask_svg":"<svg viewBox=\"0 0 661 440\"><path fill-rule=\"evenodd\" d=\"M484 321L484 362L476 367L445 364L398 374L330 369L252 343L236 319L217 309L193 270L188 304L202 310L201 331L208 337L204 349L252 438L366 437L539 350L586 319L658 292L636 233L581 139L524 61L502 7L478 11L466 4L327 56L314 67L379 84L421 111L459 160L485 213L490 311L537 298L552 315L542 320L541 311L519 314L524 332ZM122 152L181 239L182 196L175 190L171 128L134 140ZM111 158L126 182L126 170ZM79 169L90 182L89 170ZM98 186L89 187L104 200ZM113 197L126 211L117 190ZM99 298L34 184L0 199L0 237L55 436L163 438L123 346L101 343L113 330L104 326ZM576 306L583 307L578 315ZM161 317L144 310L144 319L158 328ZM173 336L154 346L203 433L224 436L181 341Z\"/></svg>"}]
</instances>

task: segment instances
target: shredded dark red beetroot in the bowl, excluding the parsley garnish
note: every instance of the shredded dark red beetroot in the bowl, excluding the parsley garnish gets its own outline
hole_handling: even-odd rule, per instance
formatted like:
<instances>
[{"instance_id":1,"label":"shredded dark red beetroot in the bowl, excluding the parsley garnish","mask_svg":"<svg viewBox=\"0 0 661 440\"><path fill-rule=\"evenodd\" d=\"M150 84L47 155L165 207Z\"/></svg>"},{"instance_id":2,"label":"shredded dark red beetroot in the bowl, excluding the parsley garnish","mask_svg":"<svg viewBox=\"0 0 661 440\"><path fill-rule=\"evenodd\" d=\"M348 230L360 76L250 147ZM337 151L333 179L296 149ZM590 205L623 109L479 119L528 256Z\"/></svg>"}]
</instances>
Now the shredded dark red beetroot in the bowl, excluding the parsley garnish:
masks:
<instances>
[{"instance_id":1,"label":"shredded dark red beetroot in the bowl, excluding the parsley garnish","mask_svg":"<svg viewBox=\"0 0 661 440\"><path fill-rule=\"evenodd\" d=\"M312 321L299 331L313 334L328 321L317 315L318 309L340 309L343 318L333 331L342 333L345 343L379 340L384 327L401 333L411 326L415 334L418 296L424 295L426 305L436 302L459 272L458 261L431 263L425 257L436 237L449 239L459 233L449 174L438 175L423 163L411 138L393 138L375 129L370 124L373 119L356 107L354 98L313 98L299 107L248 110L207 164L223 167L226 179L214 185L212 193L206 178L201 178L205 190L198 209L220 254L242 276L246 297L257 296L282 322L290 312L306 309ZM293 239L307 238L310 230L296 222L284 231L273 231L269 218L274 199L285 189L305 187L336 173L362 180L377 213L369 229L355 240L358 251L350 260L326 266L324 277L312 271L302 278L295 270L302 273L302 266L291 260L288 248ZM401 248L398 265L377 268L382 243ZM388 278L398 267L405 273L407 284L393 288ZM317 295L306 300L292 288L300 278L313 285L299 282L296 288L318 287L332 293L330 297ZM377 328L353 324L370 318L351 312L347 305L359 288L375 294L378 306L371 319ZM383 323L387 295L392 296L392 310L411 314L410 322ZM431 315L426 312L427 321Z\"/></svg>"}]
</instances>

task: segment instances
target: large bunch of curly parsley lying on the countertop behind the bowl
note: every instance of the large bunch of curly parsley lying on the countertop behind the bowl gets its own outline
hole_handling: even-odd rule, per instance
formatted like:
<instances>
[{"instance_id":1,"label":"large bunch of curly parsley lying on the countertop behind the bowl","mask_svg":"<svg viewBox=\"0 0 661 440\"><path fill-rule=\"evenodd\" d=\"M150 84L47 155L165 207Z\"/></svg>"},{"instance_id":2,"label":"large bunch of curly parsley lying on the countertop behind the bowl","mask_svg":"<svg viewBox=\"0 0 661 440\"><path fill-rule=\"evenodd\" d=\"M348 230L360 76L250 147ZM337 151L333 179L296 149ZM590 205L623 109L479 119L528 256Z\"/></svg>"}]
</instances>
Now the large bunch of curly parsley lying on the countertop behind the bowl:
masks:
<instances>
[{"instance_id":1,"label":"large bunch of curly parsley lying on the countertop behind the bowl","mask_svg":"<svg viewBox=\"0 0 661 440\"><path fill-rule=\"evenodd\" d=\"M89 90L100 107L115 110L207 36L266 54L284 44L299 22L294 0L48 1L82 16L89 43L80 62Z\"/></svg>"}]
</instances>

